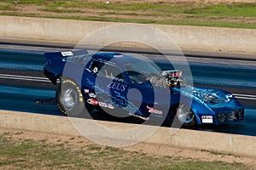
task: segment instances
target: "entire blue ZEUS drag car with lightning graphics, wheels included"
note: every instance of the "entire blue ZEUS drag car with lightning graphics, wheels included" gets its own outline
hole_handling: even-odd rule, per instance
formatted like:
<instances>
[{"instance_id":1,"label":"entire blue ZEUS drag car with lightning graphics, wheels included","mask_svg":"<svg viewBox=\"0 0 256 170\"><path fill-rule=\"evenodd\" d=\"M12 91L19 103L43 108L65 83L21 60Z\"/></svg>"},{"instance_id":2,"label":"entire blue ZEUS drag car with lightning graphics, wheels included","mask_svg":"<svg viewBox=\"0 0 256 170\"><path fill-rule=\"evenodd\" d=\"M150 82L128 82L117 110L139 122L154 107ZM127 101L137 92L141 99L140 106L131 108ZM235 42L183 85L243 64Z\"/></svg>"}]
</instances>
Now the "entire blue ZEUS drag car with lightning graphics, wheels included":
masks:
<instances>
[{"instance_id":1,"label":"entire blue ZEUS drag car with lightning graphics, wheels included","mask_svg":"<svg viewBox=\"0 0 256 170\"><path fill-rule=\"evenodd\" d=\"M86 50L46 53L44 75L57 86L56 103L68 116L94 109L114 116L157 117L184 126L223 124L244 118L230 93L186 84L183 72L161 71L152 63L119 53Z\"/></svg>"}]
</instances>

